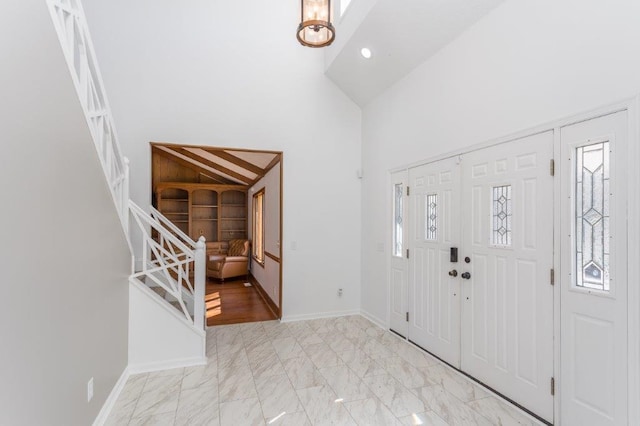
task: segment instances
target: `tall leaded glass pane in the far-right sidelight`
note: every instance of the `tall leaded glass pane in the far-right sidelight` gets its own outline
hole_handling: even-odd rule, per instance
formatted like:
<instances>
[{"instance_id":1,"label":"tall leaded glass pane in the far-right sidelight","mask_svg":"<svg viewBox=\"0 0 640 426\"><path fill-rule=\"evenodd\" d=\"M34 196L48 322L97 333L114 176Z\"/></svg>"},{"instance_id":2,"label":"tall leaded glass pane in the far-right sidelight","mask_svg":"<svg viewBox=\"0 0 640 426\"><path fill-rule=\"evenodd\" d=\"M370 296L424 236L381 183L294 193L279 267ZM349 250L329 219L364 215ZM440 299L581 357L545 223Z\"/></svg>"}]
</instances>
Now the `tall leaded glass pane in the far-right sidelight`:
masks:
<instances>
[{"instance_id":1,"label":"tall leaded glass pane in the far-right sidelight","mask_svg":"<svg viewBox=\"0 0 640 426\"><path fill-rule=\"evenodd\" d=\"M576 148L576 286L609 291L609 142Z\"/></svg>"}]
</instances>

